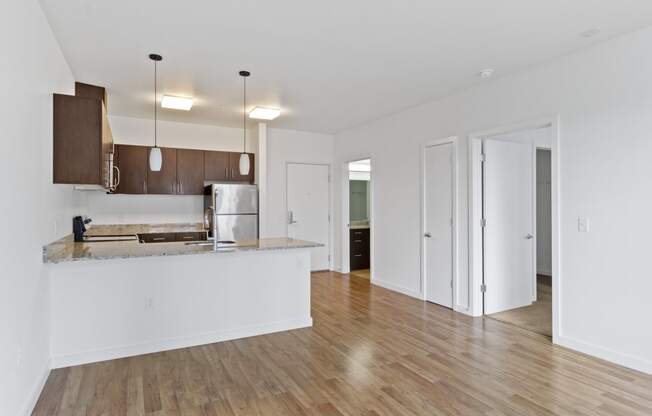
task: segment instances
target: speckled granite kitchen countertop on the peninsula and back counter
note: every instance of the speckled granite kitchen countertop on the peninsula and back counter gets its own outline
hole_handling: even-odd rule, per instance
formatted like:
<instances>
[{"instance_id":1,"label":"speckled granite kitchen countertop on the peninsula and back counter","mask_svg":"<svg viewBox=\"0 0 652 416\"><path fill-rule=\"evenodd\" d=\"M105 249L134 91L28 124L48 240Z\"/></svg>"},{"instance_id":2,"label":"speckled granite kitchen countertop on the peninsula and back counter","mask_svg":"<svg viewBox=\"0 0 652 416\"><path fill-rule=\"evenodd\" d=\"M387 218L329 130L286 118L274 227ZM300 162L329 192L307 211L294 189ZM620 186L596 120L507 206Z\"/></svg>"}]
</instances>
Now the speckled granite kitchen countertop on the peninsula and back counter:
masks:
<instances>
[{"instance_id":1,"label":"speckled granite kitchen countertop on the peninsula and back counter","mask_svg":"<svg viewBox=\"0 0 652 416\"><path fill-rule=\"evenodd\" d=\"M87 235L136 234L145 232L202 231L200 224L132 224L94 226ZM137 257L178 256L190 254L233 253L242 251L289 250L321 247L322 244L292 238L264 238L240 241L236 244L215 246L211 242L140 243L131 241L75 242L72 235L43 247L44 263L71 261L126 259Z\"/></svg>"}]
</instances>

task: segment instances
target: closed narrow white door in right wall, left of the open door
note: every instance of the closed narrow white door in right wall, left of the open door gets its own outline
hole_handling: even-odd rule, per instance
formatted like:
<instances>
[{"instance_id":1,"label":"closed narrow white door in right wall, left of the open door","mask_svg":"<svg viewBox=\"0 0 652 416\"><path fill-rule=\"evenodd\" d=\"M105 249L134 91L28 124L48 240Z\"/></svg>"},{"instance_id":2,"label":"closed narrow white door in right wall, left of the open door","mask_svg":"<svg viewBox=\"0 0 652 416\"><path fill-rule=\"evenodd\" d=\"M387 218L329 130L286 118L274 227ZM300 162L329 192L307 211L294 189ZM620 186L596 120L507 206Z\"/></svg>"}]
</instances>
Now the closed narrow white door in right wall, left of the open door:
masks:
<instances>
[{"instance_id":1,"label":"closed narrow white door in right wall, left of the open door","mask_svg":"<svg viewBox=\"0 0 652 416\"><path fill-rule=\"evenodd\" d=\"M453 144L425 149L426 299L453 307Z\"/></svg>"}]
</instances>

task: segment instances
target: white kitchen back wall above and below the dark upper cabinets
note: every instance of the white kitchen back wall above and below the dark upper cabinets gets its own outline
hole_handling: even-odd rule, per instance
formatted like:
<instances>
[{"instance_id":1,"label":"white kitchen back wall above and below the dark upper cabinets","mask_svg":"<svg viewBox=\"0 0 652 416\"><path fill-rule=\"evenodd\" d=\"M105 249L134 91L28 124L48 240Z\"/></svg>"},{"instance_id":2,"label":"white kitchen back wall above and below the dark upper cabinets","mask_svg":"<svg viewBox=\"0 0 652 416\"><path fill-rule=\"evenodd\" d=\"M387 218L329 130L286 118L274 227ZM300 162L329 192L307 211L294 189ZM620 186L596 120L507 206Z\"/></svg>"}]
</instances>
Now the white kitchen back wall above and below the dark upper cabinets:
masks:
<instances>
[{"instance_id":1,"label":"white kitchen back wall above and below the dark upper cabinets","mask_svg":"<svg viewBox=\"0 0 652 416\"><path fill-rule=\"evenodd\" d=\"M153 120L111 116L110 123L116 144L154 144ZM253 125L251 127L247 128L247 151L257 153L257 129ZM162 147L241 152L242 129L159 121L158 144ZM107 195L85 192L84 197L88 205L87 213L95 224L201 222L204 213L203 199L196 195Z\"/></svg>"}]
</instances>

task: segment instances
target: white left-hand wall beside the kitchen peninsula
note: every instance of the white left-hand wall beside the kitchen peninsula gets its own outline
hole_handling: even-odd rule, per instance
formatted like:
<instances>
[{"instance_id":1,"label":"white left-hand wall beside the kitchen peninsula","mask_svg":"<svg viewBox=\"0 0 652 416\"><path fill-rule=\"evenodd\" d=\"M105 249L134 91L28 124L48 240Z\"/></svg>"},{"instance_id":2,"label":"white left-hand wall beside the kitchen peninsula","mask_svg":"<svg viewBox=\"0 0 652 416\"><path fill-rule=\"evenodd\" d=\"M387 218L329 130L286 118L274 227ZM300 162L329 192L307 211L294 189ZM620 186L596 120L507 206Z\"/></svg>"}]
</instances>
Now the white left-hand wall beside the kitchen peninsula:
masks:
<instances>
[{"instance_id":1,"label":"white left-hand wall beside the kitchen peninsula","mask_svg":"<svg viewBox=\"0 0 652 416\"><path fill-rule=\"evenodd\" d=\"M49 372L42 246L70 232L81 198L52 184L52 93L74 82L36 0L3 3L0 45L0 414L21 415Z\"/></svg>"}]
</instances>

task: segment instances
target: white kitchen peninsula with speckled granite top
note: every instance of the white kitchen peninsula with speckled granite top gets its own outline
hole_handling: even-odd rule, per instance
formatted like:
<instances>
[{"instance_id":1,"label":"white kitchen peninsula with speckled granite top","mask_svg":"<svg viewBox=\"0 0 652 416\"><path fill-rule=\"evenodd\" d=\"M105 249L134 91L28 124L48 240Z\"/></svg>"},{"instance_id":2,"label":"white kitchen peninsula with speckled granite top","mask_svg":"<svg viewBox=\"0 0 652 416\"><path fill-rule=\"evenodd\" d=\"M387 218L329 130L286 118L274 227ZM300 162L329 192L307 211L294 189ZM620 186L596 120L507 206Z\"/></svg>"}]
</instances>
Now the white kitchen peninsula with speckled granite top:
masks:
<instances>
[{"instance_id":1,"label":"white kitchen peninsula with speckled granite top","mask_svg":"<svg viewBox=\"0 0 652 416\"><path fill-rule=\"evenodd\" d=\"M55 368L312 325L310 248L138 241L45 248Z\"/></svg>"}]
</instances>

